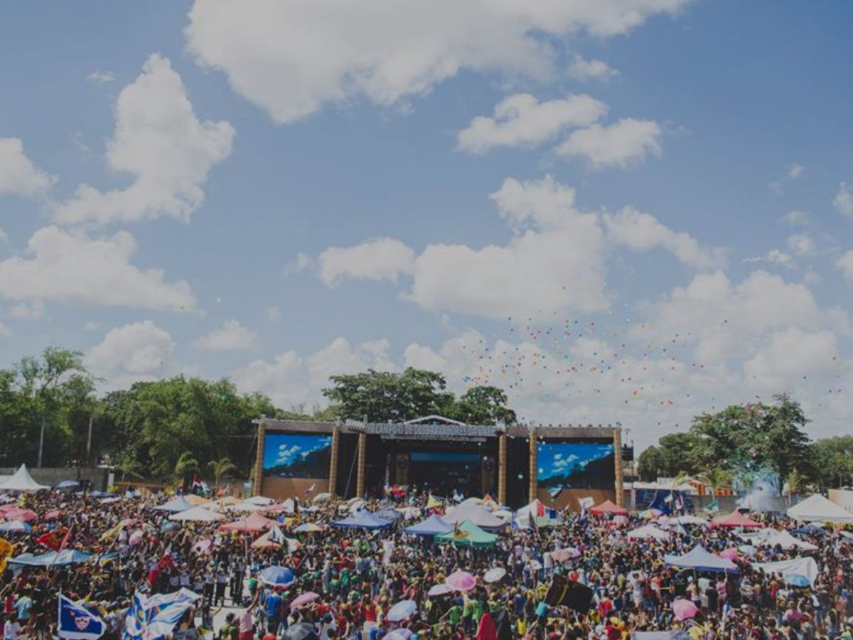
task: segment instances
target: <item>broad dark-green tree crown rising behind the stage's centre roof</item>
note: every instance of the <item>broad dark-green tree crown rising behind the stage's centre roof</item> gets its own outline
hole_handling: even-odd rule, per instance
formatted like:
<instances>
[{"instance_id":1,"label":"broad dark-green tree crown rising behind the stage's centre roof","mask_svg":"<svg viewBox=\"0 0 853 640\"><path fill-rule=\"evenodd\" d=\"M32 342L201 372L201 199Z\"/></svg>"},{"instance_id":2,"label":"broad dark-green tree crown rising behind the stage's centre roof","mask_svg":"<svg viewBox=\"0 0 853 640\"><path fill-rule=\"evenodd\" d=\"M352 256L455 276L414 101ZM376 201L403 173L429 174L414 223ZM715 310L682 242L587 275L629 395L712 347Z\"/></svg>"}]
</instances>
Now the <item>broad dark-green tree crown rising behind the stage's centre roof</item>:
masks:
<instances>
[{"instance_id":1,"label":"broad dark-green tree crown rising behind the stage's centre roof","mask_svg":"<svg viewBox=\"0 0 853 640\"><path fill-rule=\"evenodd\" d=\"M405 422L450 412L453 394L445 391L444 376L432 371L406 369L403 373L374 371L333 375L331 387L322 390L339 418L368 422Z\"/></svg>"}]
</instances>

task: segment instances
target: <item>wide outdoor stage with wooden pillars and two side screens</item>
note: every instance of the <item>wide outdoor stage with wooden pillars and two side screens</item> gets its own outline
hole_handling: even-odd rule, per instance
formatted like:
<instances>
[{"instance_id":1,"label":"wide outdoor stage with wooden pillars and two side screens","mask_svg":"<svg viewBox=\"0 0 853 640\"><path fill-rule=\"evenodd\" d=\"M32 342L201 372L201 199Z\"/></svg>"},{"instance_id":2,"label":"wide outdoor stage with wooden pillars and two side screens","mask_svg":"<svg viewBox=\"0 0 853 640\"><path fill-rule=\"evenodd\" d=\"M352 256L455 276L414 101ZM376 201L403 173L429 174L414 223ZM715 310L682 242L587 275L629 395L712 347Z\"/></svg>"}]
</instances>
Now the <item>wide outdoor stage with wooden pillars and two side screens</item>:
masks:
<instances>
[{"instance_id":1,"label":"wide outdoor stage with wooden pillars and two side screens","mask_svg":"<svg viewBox=\"0 0 853 640\"><path fill-rule=\"evenodd\" d=\"M378 495L384 486L482 497L518 507L538 497L622 503L618 427L494 427L439 416L400 424L261 418L253 491L281 500L319 492Z\"/></svg>"}]
</instances>

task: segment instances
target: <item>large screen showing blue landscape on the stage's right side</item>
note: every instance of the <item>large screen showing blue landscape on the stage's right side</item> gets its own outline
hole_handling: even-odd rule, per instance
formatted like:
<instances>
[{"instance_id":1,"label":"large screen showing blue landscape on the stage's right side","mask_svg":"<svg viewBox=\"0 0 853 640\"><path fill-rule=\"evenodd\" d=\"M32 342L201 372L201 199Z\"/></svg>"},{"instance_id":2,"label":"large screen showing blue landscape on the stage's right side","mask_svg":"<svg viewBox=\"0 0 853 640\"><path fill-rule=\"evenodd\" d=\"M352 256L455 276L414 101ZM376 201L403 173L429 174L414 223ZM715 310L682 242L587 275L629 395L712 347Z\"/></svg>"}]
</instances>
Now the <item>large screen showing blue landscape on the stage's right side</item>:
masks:
<instances>
[{"instance_id":1,"label":"large screen showing blue landscape on the stage's right side","mask_svg":"<svg viewBox=\"0 0 853 640\"><path fill-rule=\"evenodd\" d=\"M537 480L549 489L612 489L612 442L545 442L539 445Z\"/></svg>"}]
</instances>

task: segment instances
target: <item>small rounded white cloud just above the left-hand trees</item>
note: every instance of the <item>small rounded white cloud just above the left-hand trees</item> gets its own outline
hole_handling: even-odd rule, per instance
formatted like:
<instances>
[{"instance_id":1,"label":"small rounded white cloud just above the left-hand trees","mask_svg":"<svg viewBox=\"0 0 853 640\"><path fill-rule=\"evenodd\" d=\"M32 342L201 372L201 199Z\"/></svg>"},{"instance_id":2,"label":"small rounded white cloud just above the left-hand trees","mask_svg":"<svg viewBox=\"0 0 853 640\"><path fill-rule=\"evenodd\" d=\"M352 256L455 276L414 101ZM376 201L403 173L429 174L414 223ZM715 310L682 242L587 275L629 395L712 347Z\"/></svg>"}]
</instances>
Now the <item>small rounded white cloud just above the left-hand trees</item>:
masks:
<instances>
[{"instance_id":1,"label":"small rounded white cloud just above the left-hand trees","mask_svg":"<svg viewBox=\"0 0 853 640\"><path fill-rule=\"evenodd\" d=\"M175 343L150 320L107 331L85 356L86 367L110 386L125 381L152 380L171 366Z\"/></svg>"}]
</instances>

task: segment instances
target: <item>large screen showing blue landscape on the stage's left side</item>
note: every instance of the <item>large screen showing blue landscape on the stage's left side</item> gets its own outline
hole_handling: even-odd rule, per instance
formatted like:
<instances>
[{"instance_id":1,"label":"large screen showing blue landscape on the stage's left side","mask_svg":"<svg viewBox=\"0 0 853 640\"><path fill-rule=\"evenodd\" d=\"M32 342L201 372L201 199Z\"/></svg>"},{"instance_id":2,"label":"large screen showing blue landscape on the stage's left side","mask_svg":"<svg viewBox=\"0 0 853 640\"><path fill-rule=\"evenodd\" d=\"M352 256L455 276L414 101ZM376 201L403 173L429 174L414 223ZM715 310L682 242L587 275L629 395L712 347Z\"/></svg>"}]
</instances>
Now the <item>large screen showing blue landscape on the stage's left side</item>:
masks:
<instances>
[{"instance_id":1,"label":"large screen showing blue landscape on the stage's left side","mask_svg":"<svg viewBox=\"0 0 853 640\"><path fill-rule=\"evenodd\" d=\"M264 475L273 478L328 478L332 436L267 433Z\"/></svg>"}]
</instances>

